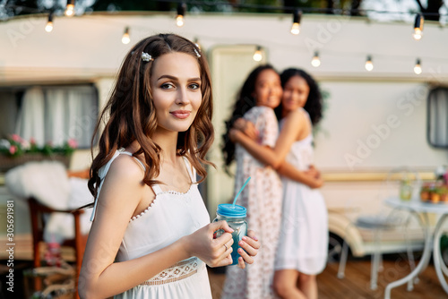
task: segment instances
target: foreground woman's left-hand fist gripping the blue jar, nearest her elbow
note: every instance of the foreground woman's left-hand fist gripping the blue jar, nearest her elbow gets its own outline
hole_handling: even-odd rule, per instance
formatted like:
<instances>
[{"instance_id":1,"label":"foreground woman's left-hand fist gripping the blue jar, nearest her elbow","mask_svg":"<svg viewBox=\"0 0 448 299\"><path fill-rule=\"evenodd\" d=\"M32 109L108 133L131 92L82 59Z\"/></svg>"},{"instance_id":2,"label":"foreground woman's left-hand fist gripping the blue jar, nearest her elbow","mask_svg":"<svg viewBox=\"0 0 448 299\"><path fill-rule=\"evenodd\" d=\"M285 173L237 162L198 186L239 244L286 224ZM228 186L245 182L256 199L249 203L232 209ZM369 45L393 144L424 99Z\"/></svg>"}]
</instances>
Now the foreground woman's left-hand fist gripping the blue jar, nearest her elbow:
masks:
<instances>
[{"instance_id":1,"label":"foreground woman's left-hand fist gripping the blue jar, nearest her elbow","mask_svg":"<svg viewBox=\"0 0 448 299\"><path fill-rule=\"evenodd\" d=\"M213 233L224 230L224 234L213 239ZM227 266L232 263L232 232L226 221L213 222L184 237L185 250L189 256L196 256L210 267Z\"/></svg>"}]
</instances>

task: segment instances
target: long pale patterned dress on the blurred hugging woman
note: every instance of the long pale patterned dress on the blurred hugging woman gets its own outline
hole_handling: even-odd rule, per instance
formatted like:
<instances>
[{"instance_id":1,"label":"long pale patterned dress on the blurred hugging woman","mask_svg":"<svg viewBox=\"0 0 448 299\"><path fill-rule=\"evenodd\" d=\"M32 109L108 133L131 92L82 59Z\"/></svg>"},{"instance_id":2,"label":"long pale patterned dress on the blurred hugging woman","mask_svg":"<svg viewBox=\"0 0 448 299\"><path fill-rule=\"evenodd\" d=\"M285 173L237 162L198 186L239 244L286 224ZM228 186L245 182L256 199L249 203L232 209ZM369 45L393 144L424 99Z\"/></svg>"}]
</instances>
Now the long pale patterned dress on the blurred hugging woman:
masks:
<instances>
[{"instance_id":1,"label":"long pale patterned dress on the blurred hugging woman","mask_svg":"<svg viewBox=\"0 0 448 299\"><path fill-rule=\"evenodd\" d=\"M274 147L279 136L279 125L269 107L253 107L245 119L255 124L259 132L259 144ZM262 247L254 258L254 264L246 269L228 266L221 299L276 298L272 282L274 259L280 235L282 185L275 169L266 167L237 144L237 175L235 194L251 177L249 184L239 195L237 203L247 209L248 229L257 234Z\"/></svg>"}]
</instances>

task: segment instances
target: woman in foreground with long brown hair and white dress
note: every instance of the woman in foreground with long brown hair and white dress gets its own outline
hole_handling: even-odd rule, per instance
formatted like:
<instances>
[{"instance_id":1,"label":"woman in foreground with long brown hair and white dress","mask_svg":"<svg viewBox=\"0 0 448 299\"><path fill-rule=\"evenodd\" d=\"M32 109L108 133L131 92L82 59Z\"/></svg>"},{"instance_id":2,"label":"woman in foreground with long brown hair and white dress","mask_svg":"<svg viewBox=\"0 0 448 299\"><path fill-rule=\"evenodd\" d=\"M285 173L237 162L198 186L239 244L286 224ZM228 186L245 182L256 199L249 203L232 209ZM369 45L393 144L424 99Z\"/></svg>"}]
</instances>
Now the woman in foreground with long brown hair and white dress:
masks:
<instances>
[{"instance_id":1,"label":"woman in foreground with long brown hair and white dress","mask_svg":"<svg viewBox=\"0 0 448 299\"><path fill-rule=\"evenodd\" d=\"M211 298L205 265L230 264L233 243L225 221L210 224L197 188L211 113L211 76L194 43L159 34L129 51L97 125L82 298ZM260 243L249 232L239 244L244 269Z\"/></svg>"}]
</instances>

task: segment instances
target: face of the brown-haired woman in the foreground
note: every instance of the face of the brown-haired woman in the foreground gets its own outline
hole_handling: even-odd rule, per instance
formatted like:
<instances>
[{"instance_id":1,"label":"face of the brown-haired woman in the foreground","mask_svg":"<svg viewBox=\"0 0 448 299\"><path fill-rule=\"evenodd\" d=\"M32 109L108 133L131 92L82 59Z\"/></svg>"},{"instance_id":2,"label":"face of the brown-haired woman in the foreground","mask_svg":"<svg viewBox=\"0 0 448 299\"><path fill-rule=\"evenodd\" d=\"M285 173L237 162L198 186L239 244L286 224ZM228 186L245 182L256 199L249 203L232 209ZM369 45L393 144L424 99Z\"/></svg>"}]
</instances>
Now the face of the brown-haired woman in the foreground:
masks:
<instances>
[{"instance_id":1,"label":"face of the brown-haired woman in the foreground","mask_svg":"<svg viewBox=\"0 0 448 299\"><path fill-rule=\"evenodd\" d=\"M194 56L175 52L154 60L150 84L158 129L188 130L201 106L201 83L199 64Z\"/></svg>"}]
</instances>

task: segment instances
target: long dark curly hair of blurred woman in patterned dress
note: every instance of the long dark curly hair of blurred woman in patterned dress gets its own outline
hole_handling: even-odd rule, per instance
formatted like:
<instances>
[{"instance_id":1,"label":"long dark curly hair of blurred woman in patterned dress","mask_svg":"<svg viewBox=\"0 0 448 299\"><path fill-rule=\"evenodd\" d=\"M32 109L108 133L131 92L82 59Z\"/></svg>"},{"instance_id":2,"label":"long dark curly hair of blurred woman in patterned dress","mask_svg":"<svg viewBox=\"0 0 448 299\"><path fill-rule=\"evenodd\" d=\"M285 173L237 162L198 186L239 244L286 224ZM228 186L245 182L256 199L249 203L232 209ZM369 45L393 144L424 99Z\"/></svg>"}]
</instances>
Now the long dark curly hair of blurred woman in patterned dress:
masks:
<instances>
[{"instance_id":1,"label":"long dark curly hair of blurred woman in patterned dress","mask_svg":"<svg viewBox=\"0 0 448 299\"><path fill-rule=\"evenodd\" d=\"M222 134L222 153L224 155L224 165L226 171L228 171L228 166L235 158L235 143L230 141L230 139L228 138L228 132L232 128L237 118L243 117L243 115L245 115L245 113L249 111L249 109L255 107L256 101L252 94L254 93L255 83L258 76L265 70L272 70L275 73L278 73L271 64L263 64L254 68L254 70L247 76L243 87L239 91L237 95L237 102L235 103L235 106L233 108L232 115L226 121L226 132Z\"/></svg>"}]
</instances>

